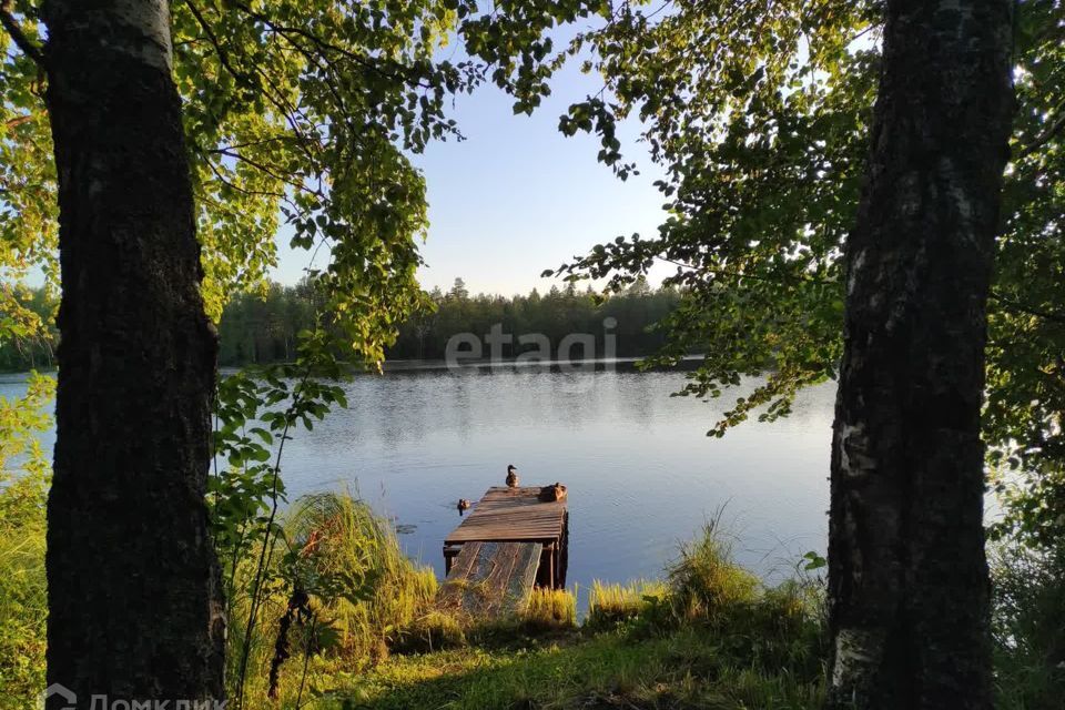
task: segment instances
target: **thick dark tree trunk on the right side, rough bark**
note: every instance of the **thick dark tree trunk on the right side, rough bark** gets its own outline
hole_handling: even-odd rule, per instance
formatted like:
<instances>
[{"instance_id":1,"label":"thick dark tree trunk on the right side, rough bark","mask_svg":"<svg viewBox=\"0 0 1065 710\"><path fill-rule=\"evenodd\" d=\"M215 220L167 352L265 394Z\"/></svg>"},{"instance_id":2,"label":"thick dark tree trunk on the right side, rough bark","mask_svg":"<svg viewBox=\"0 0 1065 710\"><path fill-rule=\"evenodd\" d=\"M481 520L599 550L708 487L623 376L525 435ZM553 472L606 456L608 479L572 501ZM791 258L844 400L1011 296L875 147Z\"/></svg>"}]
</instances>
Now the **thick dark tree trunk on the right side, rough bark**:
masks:
<instances>
[{"instance_id":1,"label":"thick dark tree trunk on the right side, rough bark","mask_svg":"<svg viewBox=\"0 0 1065 710\"><path fill-rule=\"evenodd\" d=\"M889 0L846 246L829 706L991 708L980 412L1011 0Z\"/></svg>"}]
</instances>

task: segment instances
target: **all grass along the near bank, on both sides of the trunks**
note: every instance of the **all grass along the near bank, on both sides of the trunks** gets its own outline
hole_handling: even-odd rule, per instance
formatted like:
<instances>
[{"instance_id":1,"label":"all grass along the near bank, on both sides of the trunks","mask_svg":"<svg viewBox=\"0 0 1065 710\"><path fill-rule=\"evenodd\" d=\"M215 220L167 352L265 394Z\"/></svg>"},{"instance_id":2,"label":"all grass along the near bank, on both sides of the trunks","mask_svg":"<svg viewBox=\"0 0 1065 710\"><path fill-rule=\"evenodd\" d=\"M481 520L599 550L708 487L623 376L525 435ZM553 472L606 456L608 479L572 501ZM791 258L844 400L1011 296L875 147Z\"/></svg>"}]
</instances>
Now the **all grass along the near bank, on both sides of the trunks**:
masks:
<instances>
[{"instance_id":1,"label":"all grass along the near bank, on both sides of the trunks","mask_svg":"<svg viewBox=\"0 0 1065 710\"><path fill-rule=\"evenodd\" d=\"M0 488L2 710L31 707L44 682L43 490L41 481ZM434 609L432 572L351 496L303 498L284 529L252 636L250 709L805 710L823 701L822 588L763 585L712 524L663 580L595 582L582 625L572 592L538 590L519 618L489 627ZM1058 708L1065 554L1007 549L993 571L996 707ZM246 585L251 560L237 574ZM271 700L271 659L296 581L314 616L292 625L292 657ZM246 602L233 600L231 639L242 637Z\"/></svg>"}]
</instances>

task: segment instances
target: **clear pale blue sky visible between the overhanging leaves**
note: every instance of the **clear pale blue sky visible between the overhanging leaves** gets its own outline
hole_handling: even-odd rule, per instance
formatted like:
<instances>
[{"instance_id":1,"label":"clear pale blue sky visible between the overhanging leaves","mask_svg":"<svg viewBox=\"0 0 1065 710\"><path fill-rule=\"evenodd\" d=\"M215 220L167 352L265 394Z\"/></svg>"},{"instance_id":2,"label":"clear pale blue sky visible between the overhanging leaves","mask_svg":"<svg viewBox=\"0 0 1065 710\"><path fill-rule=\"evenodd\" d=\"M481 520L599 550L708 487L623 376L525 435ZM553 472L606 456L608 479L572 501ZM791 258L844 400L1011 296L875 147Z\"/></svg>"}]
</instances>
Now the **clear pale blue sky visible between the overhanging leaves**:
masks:
<instances>
[{"instance_id":1,"label":"clear pale blue sky visible between the overhanging leaves","mask_svg":"<svg viewBox=\"0 0 1065 710\"><path fill-rule=\"evenodd\" d=\"M495 87L456 98L452 116L467 140L433 143L414 156L429 200L425 288L446 291L460 276L471 293L542 292L552 283L540 278L545 268L619 234L656 233L665 200L652 183L661 173L636 143L638 125L619 130L623 159L641 171L626 182L596 160L595 135L558 131L567 106L600 87L570 63L531 116L514 115L511 100ZM290 250L284 232L278 246L274 278L294 283L308 255Z\"/></svg>"}]
</instances>

